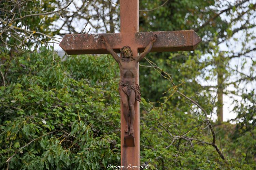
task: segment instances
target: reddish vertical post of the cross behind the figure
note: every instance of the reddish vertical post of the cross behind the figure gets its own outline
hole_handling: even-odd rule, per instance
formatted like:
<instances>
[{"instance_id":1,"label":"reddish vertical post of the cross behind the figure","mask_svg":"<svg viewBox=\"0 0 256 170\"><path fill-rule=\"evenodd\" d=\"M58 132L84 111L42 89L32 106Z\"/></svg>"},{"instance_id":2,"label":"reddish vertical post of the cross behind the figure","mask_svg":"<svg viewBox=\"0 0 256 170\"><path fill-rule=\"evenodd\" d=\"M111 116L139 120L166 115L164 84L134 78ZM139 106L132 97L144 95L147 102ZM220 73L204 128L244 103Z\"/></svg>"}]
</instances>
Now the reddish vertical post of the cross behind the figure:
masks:
<instances>
[{"instance_id":1,"label":"reddish vertical post of the cross behind the figure","mask_svg":"<svg viewBox=\"0 0 256 170\"><path fill-rule=\"evenodd\" d=\"M121 0L120 1L120 34L122 37L121 46L131 46L133 56L138 56L138 47L135 33L139 32L139 0ZM139 64L136 76L136 84L139 84ZM123 106L121 103L121 166L126 168L140 166L140 105L135 101L134 111L134 147L125 146L125 137L128 135L124 132L126 121L123 115ZM127 139L127 138L126 138ZM132 139L133 140L133 139Z\"/></svg>"}]
</instances>

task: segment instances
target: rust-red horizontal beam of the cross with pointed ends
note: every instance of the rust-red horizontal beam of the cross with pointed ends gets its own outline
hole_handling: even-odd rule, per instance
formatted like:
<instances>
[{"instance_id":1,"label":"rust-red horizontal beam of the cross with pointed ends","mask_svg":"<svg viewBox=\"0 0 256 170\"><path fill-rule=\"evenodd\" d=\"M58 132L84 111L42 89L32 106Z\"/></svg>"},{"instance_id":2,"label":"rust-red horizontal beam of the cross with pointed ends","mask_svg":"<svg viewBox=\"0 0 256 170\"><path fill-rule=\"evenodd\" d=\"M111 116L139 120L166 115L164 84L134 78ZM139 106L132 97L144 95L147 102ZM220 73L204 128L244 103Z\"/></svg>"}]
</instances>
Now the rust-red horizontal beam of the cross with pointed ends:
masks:
<instances>
[{"instance_id":1,"label":"rust-red horizontal beam of the cross with pointed ends","mask_svg":"<svg viewBox=\"0 0 256 170\"><path fill-rule=\"evenodd\" d=\"M151 37L156 34L157 41L154 43L151 52L165 51L192 51L195 50L201 38L194 30L185 31L158 31L158 32L137 32L134 35L135 43L139 52L147 47ZM103 35L116 53L123 46L131 46L122 42L121 33L105 34L67 34L62 39L60 47L67 54L107 54L105 46L102 44L100 35ZM134 44L133 44L134 46Z\"/></svg>"}]
</instances>

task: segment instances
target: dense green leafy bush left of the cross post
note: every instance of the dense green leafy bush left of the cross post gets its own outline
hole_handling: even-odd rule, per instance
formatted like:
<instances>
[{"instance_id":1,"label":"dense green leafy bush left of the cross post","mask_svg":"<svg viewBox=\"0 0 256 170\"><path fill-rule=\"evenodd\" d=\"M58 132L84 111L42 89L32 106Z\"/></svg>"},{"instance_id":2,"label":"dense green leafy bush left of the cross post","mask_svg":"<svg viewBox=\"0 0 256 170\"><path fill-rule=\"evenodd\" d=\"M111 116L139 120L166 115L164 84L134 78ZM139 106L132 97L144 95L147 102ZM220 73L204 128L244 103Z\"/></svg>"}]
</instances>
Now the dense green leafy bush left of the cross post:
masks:
<instances>
[{"instance_id":1,"label":"dense green leafy bush left of the cross post","mask_svg":"<svg viewBox=\"0 0 256 170\"><path fill-rule=\"evenodd\" d=\"M9 169L100 169L118 163L118 75L116 67L103 69L114 64L108 57L72 56L61 62L41 48L13 61L11 83L0 90L0 167L12 154ZM98 68L80 74L95 63ZM97 83L87 79L93 74ZM108 82L100 81L104 78Z\"/></svg>"}]
</instances>

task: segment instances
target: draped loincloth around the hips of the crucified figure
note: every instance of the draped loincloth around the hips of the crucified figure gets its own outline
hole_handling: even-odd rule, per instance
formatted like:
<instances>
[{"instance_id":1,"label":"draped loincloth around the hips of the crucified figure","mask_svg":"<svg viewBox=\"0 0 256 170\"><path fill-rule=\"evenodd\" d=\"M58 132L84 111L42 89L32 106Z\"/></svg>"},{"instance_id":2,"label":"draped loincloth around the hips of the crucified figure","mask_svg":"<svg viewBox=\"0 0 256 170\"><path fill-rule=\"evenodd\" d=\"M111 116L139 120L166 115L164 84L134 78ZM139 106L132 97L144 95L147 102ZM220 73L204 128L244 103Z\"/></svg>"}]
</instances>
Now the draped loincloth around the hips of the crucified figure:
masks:
<instances>
[{"instance_id":1,"label":"draped loincloth around the hips of the crucified figure","mask_svg":"<svg viewBox=\"0 0 256 170\"><path fill-rule=\"evenodd\" d=\"M124 91L124 93L130 97L131 95L131 90L133 90L135 92L135 99L139 102L141 102L141 94L140 94L140 86L138 84L136 84L135 86L133 85L129 85L129 84L123 84L123 83L119 83L119 94L120 92Z\"/></svg>"}]
</instances>

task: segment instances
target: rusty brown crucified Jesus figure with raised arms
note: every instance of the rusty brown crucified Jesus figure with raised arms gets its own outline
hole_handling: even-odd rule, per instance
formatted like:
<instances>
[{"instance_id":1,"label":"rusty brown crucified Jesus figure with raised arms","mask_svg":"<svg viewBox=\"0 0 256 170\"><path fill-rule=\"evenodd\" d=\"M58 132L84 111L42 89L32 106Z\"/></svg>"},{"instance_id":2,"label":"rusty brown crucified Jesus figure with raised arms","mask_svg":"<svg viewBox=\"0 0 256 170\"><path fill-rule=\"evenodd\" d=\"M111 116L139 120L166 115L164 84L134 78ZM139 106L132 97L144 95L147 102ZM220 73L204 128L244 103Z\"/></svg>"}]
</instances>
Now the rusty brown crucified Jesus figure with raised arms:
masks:
<instances>
[{"instance_id":1,"label":"rusty brown crucified Jesus figure with raised arms","mask_svg":"<svg viewBox=\"0 0 256 170\"><path fill-rule=\"evenodd\" d=\"M125 133L129 132L132 136L134 133L133 122L135 117L134 103L135 100L141 102L140 86L135 84L138 63L142 58L151 51L154 42L157 39L155 34L151 37L150 43L139 56L134 57L129 46L120 49L120 57L110 47L109 43L101 36L101 41L106 50L114 57L120 69L119 94L123 104L123 114L126 121Z\"/></svg>"}]
</instances>

